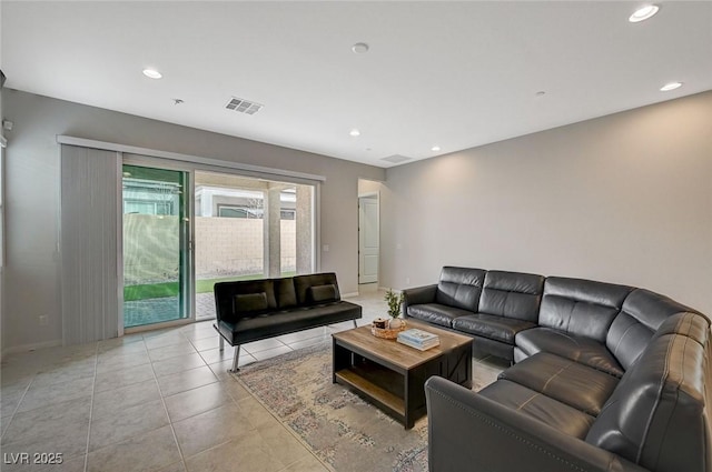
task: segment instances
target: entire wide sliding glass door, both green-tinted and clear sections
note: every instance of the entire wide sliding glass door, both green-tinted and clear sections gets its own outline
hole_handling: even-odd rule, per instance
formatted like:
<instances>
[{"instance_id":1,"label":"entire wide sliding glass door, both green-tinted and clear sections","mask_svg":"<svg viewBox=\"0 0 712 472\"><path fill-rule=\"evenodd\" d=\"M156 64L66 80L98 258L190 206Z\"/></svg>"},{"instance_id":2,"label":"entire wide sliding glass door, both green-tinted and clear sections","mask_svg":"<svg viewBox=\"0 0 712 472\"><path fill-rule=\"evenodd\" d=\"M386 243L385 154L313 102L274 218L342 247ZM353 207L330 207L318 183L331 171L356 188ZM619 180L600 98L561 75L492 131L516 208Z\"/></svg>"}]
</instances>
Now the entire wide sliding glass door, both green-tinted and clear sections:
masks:
<instances>
[{"instance_id":1,"label":"entire wide sliding glass door, both green-tinted and clear sections","mask_svg":"<svg viewBox=\"0 0 712 472\"><path fill-rule=\"evenodd\" d=\"M125 328L214 319L216 282L314 271L314 185L161 164L123 161Z\"/></svg>"}]
</instances>

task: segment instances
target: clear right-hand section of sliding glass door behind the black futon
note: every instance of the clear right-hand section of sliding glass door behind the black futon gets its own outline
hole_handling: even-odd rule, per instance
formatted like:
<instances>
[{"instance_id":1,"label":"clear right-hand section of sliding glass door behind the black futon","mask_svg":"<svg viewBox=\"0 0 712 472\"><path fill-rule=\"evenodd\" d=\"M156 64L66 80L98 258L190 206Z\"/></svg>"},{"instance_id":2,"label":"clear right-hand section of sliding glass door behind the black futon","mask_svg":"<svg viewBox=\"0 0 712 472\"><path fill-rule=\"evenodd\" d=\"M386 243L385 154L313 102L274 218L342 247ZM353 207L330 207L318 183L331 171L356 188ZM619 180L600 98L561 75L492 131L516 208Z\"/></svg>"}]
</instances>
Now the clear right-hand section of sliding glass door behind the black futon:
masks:
<instances>
[{"instance_id":1,"label":"clear right-hand section of sliding glass door behind the black futon","mask_svg":"<svg viewBox=\"0 0 712 472\"><path fill-rule=\"evenodd\" d=\"M195 172L196 318L216 282L314 271L314 185Z\"/></svg>"}]
</instances>

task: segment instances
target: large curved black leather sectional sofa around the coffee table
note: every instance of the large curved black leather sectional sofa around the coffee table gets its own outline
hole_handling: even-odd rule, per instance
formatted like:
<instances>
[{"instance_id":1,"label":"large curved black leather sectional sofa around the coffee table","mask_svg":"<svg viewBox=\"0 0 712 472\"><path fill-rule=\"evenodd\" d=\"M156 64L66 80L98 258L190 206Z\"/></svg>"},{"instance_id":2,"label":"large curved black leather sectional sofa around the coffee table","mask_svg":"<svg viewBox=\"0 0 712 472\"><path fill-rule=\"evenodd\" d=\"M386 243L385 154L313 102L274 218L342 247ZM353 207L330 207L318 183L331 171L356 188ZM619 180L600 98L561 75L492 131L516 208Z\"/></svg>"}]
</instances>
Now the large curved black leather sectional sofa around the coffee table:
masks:
<instances>
[{"instance_id":1,"label":"large curved black leather sectional sofa around the coffee table","mask_svg":"<svg viewBox=\"0 0 712 472\"><path fill-rule=\"evenodd\" d=\"M514 362L426 383L431 471L712 471L710 321L649 290L443 268L406 317Z\"/></svg>"}]
</instances>

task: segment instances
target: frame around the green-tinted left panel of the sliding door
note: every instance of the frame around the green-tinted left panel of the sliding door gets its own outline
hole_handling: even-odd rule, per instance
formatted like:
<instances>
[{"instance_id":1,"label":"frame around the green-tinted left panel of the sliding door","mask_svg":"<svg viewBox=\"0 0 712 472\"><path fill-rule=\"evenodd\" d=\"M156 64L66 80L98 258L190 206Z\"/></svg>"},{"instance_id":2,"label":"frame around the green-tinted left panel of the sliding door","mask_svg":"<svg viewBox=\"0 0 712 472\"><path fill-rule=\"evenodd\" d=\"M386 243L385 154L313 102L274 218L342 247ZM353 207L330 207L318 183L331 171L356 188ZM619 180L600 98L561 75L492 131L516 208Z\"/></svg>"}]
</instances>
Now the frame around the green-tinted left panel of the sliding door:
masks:
<instances>
[{"instance_id":1,"label":"frame around the green-tinted left panel of the sliding door","mask_svg":"<svg viewBox=\"0 0 712 472\"><path fill-rule=\"evenodd\" d=\"M187 229L187 234L185 234L185 239L187 239L187 245L186 245L186 253L188 255L188 259L185 261L185 290L186 290L186 294L185 294L185 300L187 303L187 310L188 310L188 315L186 318L181 318L178 320L171 320L171 321L164 321L164 322L159 322L159 323L151 323L151 324L144 324L140 327L132 327L132 328L125 328L123 327L123 317L119 317L119 335L123 334L130 334L130 333L137 333L137 332L142 332L142 331L152 331L152 330L158 330L158 329L162 329L162 328L171 328L171 327L178 327L178 325L184 325L184 324L190 324L194 323L196 321L196 291L195 291L195 250L194 250L194 235L195 235L195 199L194 199L194 194L195 194L195 168L188 163L182 163L182 162L177 162L175 160L170 160L170 159L161 159L161 158L154 158L154 157L149 157L149 155L138 155L138 154L128 154L125 153L121 160L121 165L137 165L137 167L146 167L146 168L155 168L155 169L165 169L165 170L169 170L169 171L179 171L179 172L185 172L186 173L186 185L184 188L184 201L185 201L185 209L186 212L185 214L188 218L188 224L184 225L182 228ZM121 207L122 207L122 199L121 199ZM121 212L120 214L123 214L123 209L121 208ZM121 224L121 228L123 227L123 224ZM181 238L184 237L184 234L181 234ZM121 238L121 244L120 244L120 262L119 265L123 267L123 241ZM121 277L119 280L121 280L121 282L123 281L123 277ZM120 297L120 307L119 307L119 313L123 313L123 287L121 287L121 297Z\"/></svg>"}]
</instances>

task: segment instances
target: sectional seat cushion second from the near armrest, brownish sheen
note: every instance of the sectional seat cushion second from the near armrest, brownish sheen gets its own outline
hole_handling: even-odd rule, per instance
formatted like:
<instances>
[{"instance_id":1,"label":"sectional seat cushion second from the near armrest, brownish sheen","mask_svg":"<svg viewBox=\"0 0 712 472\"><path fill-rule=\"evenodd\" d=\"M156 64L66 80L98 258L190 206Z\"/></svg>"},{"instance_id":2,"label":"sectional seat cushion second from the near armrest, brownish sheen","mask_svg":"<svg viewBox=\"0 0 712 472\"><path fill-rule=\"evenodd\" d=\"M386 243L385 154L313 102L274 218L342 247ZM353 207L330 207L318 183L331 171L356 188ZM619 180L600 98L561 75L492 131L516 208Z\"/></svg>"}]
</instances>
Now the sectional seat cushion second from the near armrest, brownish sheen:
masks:
<instances>
[{"instance_id":1,"label":"sectional seat cushion second from the near armrest, brownish sheen","mask_svg":"<svg viewBox=\"0 0 712 472\"><path fill-rule=\"evenodd\" d=\"M548 352L540 352L511 366L500 379L516 382L592 416L601 413L619 384L613 375Z\"/></svg>"}]
</instances>

